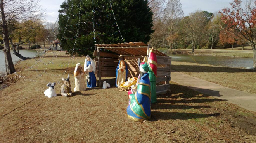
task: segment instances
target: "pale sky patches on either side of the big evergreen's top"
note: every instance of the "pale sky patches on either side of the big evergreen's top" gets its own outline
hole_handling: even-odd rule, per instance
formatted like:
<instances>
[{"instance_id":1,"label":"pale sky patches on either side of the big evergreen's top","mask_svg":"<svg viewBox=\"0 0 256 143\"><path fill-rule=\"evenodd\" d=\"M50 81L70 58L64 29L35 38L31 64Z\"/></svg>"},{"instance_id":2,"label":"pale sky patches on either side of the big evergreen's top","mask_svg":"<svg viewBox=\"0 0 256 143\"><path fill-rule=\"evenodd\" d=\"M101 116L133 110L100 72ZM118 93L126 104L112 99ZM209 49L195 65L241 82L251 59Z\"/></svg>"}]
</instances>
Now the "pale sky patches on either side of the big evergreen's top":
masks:
<instances>
[{"instance_id":1,"label":"pale sky patches on either side of the big evergreen's top","mask_svg":"<svg viewBox=\"0 0 256 143\"><path fill-rule=\"evenodd\" d=\"M218 12L224 7L230 7L233 0L180 0L184 16L196 10ZM48 22L55 22L58 18L58 10L64 0L41 0L42 9L45 10L44 19Z\"/></svg>"}]
</instances>

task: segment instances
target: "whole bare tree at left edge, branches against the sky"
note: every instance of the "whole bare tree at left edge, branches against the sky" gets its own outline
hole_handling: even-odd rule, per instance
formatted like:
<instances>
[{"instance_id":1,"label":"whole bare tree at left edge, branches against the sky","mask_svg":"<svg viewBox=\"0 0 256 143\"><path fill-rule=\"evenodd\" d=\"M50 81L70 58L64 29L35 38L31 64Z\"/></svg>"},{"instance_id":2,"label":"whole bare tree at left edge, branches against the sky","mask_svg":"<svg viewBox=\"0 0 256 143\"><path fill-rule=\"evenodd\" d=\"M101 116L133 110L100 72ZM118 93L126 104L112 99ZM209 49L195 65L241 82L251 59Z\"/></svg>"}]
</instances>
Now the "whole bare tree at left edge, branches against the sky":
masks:
<instances>
[{"instance_id":1,"label":"whole bare tree at left edge, branches against the sky","mask_svg":"<svg viewBox=\"0 0 256 143\"><path fill-rule=\"evenodd\" d=\"M3 31L3 44L5 54L6 74L15 72L10 54L8 25L21 20L36 19L40 13L39 0L0 0L1 22Z\"/></svg>"}]
</instances>

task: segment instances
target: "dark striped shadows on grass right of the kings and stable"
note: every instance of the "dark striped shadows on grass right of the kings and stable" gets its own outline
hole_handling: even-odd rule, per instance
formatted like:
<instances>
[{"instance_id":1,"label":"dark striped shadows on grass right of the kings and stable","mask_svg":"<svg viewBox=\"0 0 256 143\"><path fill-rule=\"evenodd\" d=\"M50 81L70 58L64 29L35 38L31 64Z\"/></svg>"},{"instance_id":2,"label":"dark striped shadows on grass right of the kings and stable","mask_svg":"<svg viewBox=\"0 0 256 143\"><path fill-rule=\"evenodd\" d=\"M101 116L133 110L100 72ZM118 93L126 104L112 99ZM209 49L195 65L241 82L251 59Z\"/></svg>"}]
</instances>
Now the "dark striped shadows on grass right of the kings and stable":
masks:
<instances>
[{"instance_id":1,"label":"dark striped shadows on grass right of the kings and stable","mask_svg":"<svg viewBox=\"0 0 256 143\"><path fill-rule=\"evenodd\" d=\"M157 103L152 104L151 118L149 121L170 120L170 119L196 119L207 118L211 116L219 116L220 113L203 114L203 113L189 113L201 108L211 108L210 106L191 106L189 103L211 103L224 101L221 99L207 98L209 95L201 94L187 86L182 86L171 82L170 93L157 96ZM216 91L218 93L218 91ZM220 95L219 95L220 96ZM169 111L166 111L168 109ZM179 109L183 112L170 112L170 110ZM191 111L190 111L191 109ZM157 111L154 111L157 110ZM189 110L189 111L188 111Z\"/></svg>"}]
</instances>

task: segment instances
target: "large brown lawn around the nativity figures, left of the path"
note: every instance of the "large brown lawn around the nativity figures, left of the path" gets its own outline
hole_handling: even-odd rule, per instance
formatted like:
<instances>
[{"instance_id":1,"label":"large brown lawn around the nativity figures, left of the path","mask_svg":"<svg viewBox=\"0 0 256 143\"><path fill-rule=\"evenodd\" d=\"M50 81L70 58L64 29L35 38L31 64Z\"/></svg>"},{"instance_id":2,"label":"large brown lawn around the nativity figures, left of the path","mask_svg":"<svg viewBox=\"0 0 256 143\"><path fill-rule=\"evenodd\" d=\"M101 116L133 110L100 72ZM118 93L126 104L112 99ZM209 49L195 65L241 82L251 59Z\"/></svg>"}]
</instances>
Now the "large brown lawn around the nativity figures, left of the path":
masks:
<instances>
[{"instance_id":1,"label":"large brown lawn around the nativity figures, left of the path","mask_svg":"<svg viewBox=\"0 0 256 143\"><path fill-rule=\"evenodd\" d=\"M61 77L69 73L74 88L74 67L85 57L63 53L16 65L24 78L9 75L9 87L0 91L0 142L256 142L256 113L174 82L143 123L127 118L128 95L114 87L64 98ZM173 63L176 70L186 66ZM44 96L48 82L60 83L57 97Z\"/></svg>"}]
</instances>

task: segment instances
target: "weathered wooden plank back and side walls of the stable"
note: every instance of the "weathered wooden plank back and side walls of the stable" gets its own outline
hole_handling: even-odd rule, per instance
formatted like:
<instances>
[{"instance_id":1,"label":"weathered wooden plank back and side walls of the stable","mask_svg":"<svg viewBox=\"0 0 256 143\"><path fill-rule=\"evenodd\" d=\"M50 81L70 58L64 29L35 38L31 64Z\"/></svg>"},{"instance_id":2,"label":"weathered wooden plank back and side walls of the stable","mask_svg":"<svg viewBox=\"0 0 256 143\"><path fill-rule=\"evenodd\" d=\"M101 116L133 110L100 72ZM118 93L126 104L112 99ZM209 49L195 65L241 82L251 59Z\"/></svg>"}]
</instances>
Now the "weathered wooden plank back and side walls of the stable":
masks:
<instances>
[{"instance_id":1,"label":"weathered wooden plank back and side walls of the stable","mask_svg":"<svg viewBox=\"0 0 256 143\"><path fill-rule=\"evenodd\" d=\"M97 56L97 51L94 52ZM124 56L115 55L106 52L100 52L100 69L101 77L116 77L116 67L118 66L119 59L124 59L128 66L128 77L138 77L138 58L144 59L144 56ZM95 58L95 65L98 66L98 58ZM171 57L157 56L157 94L165 94L170 89L171 80ZM99 69L99 68L97 68ZM98 71L96 71L96 76L99 77ZM113 81L113 79L112 79ZM114 84L114 82L110 83ZM111 85L113 86L113 85Z\"/></svg>"}]
</instances>

